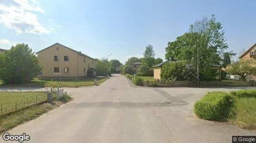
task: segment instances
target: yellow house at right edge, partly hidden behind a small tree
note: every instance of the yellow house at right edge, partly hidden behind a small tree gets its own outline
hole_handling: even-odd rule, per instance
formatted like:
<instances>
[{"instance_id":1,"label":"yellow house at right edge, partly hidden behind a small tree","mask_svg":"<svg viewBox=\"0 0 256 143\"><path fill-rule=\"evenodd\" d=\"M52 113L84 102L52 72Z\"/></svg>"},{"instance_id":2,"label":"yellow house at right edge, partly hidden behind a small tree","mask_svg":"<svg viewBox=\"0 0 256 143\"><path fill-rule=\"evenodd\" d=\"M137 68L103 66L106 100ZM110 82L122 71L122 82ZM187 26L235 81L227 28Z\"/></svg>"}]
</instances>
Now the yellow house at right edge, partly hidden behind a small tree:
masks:
<instances>
[{"instance_id":1,"label":"yellow house at right edge, partly hidden behind a small tree","mask_svg":"<svg viewBox=\"0 0 256 143\"><path fill-rule=\"evenodd\" d=\"M245 51L240 57L240 60L256 60L256 43L253 44L247 51ZM256 65L255 65L256 66ZM246 80L256 80L256 75L248 75Z\"/></svg>"}]
</instances>

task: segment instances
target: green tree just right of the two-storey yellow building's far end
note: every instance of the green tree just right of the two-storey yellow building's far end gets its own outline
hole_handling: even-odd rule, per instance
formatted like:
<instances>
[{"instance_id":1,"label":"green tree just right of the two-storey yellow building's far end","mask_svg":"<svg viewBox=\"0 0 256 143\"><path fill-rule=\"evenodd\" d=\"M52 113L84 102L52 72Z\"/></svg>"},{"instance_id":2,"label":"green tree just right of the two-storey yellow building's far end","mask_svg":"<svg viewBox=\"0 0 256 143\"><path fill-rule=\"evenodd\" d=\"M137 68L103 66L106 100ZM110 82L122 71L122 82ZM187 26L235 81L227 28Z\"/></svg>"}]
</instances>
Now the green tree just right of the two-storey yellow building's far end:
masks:
<instances>
[{"instance_id":1,"label":"green tree just right of the two-storey yellow building's far end","mask_svg":"<svg viewBox=\"0 0 256 143\"><path fill-rule=\"evenodd\" d=\"M111 74L110 72L110 62L107 61L106 58L102 58L101 60L96 60L96 71L98 76L107 76L108 74Z\"/></svg>"}]
</instances>

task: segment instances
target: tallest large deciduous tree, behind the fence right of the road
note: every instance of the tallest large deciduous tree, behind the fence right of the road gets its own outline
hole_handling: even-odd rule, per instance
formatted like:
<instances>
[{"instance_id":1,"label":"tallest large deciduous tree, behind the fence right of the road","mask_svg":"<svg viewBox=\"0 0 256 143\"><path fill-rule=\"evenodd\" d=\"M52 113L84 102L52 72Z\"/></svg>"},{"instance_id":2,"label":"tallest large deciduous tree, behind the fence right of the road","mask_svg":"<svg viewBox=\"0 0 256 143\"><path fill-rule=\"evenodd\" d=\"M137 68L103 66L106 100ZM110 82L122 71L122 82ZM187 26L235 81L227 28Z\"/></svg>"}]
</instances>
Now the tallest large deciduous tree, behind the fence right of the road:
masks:
<instances>
[{"instance_id":1,"label":"tallest large deciduous tree, behind the fence right of the road","mask_svg":"<svg viewBox=\"0 0 256 143\"><path fill-rule=\"evenodd\" d=\"M188 32L168 42L165 48L166 59L191 61L191 64L199 66L199 80L206 80L214 77L214 70L209 69L212 64L221 64L221 61L228 62L226 56L235 55L233 51L227 51L227 40L224 36L221 22L216 21L214 15L208 20L204 17L190 25ZM198 62L199 61L199 62ZM214 77L215 78L215 77Z\"/></svg>"}]
</instances>

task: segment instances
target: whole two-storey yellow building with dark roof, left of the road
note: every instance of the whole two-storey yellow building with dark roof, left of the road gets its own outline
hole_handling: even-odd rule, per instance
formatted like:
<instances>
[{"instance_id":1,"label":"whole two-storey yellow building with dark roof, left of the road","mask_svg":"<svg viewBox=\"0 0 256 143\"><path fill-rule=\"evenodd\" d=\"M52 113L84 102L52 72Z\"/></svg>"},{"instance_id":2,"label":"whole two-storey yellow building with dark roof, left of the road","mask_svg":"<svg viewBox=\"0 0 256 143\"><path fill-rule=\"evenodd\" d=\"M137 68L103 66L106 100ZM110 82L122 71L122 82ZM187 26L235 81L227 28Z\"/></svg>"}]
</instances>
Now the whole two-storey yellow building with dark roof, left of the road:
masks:
<instances>
[{"instance_id":1,"label":"whole two-storey yellow building with dark roof, left of the road","mask_svg":"<svg viewBox=\"0 0 256 143\"><path fill-rule=\"evenodd\" d=\"M42 79L78 79L96 75L93 58L59 43L36 54L39 65L43 66Z\"/></svg>"}]
</instances>

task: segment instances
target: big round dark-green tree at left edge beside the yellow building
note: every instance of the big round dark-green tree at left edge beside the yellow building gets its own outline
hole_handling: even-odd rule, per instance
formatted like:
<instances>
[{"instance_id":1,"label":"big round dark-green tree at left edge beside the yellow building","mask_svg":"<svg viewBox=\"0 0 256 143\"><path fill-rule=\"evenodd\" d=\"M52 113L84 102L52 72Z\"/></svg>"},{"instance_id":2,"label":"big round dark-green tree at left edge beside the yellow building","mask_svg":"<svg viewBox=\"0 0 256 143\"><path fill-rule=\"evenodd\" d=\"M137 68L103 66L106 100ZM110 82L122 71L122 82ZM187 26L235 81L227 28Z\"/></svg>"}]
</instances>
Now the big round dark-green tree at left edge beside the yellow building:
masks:
<instances>
[{"instance_id":1,"label":"big round dark-green tree at left edge beside the yellow building","mask_svg":"<svg viewBox=\"0 0 256 143\"><path fill-rule=\"evenodd\" d=\"M5 51L0 61L0 75L5 83L30 82L42 70L35 52L24 43Z\"/></svg>"}]
</instances>

